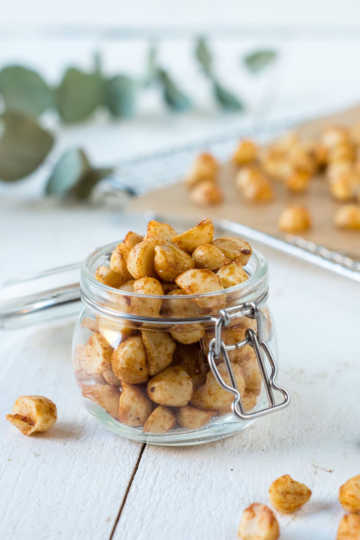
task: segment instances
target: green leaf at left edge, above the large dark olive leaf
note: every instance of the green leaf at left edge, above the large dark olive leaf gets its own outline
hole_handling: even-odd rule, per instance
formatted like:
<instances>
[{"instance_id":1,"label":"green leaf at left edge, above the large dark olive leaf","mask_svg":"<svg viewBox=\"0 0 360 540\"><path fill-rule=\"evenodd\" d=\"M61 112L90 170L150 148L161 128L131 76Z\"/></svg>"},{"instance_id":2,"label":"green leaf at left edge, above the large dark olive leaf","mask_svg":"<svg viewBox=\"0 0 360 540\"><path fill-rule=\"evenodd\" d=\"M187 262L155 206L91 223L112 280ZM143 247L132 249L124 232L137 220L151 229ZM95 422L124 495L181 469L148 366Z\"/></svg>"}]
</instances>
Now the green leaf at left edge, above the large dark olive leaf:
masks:
<instances>
[{"instance_id":1,"label":"green leaf at left edge, above the large dark olive leaf","mask_svg":"<svg viewBox=\"0 0 360 540\"><path fill-rule=\"evenodd\" d=\"M52 105L52 91L36 73L22 66L0 72L0 93L6 109L37 117Z\"/></svg>"}]
</instances>

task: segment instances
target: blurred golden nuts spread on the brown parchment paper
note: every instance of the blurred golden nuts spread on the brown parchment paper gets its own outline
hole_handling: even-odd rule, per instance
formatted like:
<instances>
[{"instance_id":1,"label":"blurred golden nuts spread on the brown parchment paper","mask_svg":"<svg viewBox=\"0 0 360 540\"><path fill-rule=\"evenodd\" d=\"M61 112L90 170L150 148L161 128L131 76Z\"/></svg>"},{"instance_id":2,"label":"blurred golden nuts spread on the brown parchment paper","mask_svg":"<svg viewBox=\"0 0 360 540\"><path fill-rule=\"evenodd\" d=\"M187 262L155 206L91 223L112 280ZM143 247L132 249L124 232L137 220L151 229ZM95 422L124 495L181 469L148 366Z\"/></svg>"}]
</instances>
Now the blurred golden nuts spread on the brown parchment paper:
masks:
<instances>
[{"instance_id":1,"label":"blurred golden nuts spread on the brown parchment paper","mask_svg":"<svg viewBox=\"0 0 360 540\"><path fill-rule=\"evenodd\" d=\"M360 124L351 128L326 127L320 138L303 142L297 133L260 148L252 140L241 140L232 157L239 168L235 185L243 200L269 203L274 199L274 182L290 193L304 193L311 180L323 173L329 195L343 204L334 216L339 228L360 230ZM196 158L185 182L193 204L220 203L219 164L208 153ZM296 233L311 227L307 208L291 205L279 219L283 232Z\"/></svg>"}]
</instances>

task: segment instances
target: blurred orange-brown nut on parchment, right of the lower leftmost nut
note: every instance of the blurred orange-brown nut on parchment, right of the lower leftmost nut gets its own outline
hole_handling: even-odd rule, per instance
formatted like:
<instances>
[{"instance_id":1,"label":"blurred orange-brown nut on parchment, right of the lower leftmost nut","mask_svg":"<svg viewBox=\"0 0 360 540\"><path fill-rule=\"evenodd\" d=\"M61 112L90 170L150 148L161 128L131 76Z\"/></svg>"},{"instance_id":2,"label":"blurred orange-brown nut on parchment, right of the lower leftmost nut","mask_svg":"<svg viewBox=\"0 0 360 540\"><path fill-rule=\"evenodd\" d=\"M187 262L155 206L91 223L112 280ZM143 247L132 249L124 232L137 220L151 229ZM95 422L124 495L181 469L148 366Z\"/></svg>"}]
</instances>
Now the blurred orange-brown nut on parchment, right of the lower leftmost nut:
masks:
<instances>
[{"instance_id":1,"label":"blurred orange-brown nut on parchment, right of the lower leftmost nut","mask_svg":"<svg viewBox=\"0 0 360 540\"><path fill-rule=\"evenodd\" d=\"M268 203L274 198L274 190L268 178L252 167L244 167L237 173L235 186L244 199L254 203Z\"/></svg>"}]
</instances>

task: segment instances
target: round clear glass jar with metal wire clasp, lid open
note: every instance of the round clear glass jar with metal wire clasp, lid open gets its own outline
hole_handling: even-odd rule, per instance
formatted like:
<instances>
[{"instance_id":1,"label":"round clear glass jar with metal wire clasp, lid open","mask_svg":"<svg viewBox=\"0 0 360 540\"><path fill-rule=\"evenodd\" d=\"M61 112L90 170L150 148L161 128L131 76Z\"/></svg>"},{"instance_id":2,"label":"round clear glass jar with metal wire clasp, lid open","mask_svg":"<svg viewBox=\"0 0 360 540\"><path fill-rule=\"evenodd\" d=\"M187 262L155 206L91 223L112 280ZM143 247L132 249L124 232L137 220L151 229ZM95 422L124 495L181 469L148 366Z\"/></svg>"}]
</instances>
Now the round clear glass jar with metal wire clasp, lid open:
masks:
<instances>
[{"instance_id":1,"label":"round clear glass jar with metal wire clasp, lid open","mask_svg":"<svg viewBox=\"0 0 360 540\"><path fill-rule=\"evenodd\" d=\"M97 249L83 264L83 308L73 338L80 394L100 424L135 441L199 444L287 406L289 395L275 382L268 265L261 253L253 250L245 267L249 279L235 287L150 296L94 278L116 245ZM273 390L283 394L281 403Z\"/></svg>"}]
</instances>

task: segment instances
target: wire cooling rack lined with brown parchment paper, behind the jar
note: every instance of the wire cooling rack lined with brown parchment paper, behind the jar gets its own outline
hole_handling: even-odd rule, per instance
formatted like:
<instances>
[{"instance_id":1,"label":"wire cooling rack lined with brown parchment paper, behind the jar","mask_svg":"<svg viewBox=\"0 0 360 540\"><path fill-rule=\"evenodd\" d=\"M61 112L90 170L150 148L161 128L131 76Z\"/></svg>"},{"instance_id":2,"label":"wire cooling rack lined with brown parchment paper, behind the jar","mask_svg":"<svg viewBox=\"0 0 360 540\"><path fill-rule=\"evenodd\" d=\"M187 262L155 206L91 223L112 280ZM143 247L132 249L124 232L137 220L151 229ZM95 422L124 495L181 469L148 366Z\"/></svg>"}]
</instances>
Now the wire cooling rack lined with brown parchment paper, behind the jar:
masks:
<instances>
[{"instance_id":1,"label":"wire cooling rack lined with brown parchment paper, behind the jar","mask_svg":"<svg viewBox=\"0 0 360 540\"><path fill-rule=\"evenodd\" d=\"M259 144L266 145L295 129L304 139L308 139L320 134L326 125L351 125L359 119L360 106L357 106L307 122L299 122L295 118L242 130L235 129L181 147L123 161L117 168L116 176L107 183L107 188L114 192L125 188L138 195L130 201L130 212L153 212L164 220L182 217L193 222L209 215L220 226L237 234L360 281L360 234L357 231L336 230L332 224L339 203L329 197L323 178L316 178L310 192L301 195L288 194L282 186L274 184L274 203L249 205L243 203L236 192L235 170L228 163L237 141L242 137L251 137ZM189 203L188 192L182 180L192 160L201 151L214 153L224 163L220 185L225 191L226 200L221 205L198 208ZM282 208L289 204L309 207L314 218L313 230L301 237L277 231L277 218Z\"/></svg>"}]
</instances>

